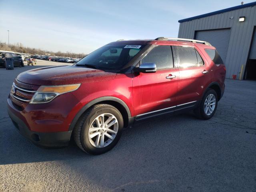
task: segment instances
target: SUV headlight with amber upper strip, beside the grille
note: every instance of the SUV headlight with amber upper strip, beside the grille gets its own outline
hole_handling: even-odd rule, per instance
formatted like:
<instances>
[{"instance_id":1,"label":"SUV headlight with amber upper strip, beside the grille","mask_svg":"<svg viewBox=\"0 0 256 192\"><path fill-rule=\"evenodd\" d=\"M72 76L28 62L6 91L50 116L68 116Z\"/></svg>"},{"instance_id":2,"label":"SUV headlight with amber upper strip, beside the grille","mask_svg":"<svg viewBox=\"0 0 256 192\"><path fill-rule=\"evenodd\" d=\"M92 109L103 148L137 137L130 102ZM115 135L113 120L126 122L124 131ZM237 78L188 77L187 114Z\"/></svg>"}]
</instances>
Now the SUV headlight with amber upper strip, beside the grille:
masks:
<instances>
[{"instance_id":1,"label":"SUV headlight with amber upper strip, beside the grille","mask_svg":"<svg viewBox=\"0 0 256 192\"><path fill-rule=\"evenodd\" d=\"M53 100L56 96L67 92L77 90L81 84L73 85L57 85L57 86L40 86L30 103L47 103Z\"/></svg>"}]
</instances>

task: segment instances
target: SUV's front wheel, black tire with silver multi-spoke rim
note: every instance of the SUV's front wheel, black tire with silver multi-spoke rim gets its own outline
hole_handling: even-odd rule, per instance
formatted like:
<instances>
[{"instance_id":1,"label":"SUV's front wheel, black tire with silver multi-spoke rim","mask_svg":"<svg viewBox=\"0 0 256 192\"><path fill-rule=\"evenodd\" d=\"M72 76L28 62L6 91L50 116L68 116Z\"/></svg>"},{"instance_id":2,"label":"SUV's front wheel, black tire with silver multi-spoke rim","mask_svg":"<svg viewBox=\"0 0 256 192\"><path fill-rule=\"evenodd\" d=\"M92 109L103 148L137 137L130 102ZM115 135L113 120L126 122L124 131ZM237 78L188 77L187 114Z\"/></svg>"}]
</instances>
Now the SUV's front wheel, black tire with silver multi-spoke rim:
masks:
<instances>
[{"instance_id":1,"label":"SUV's front wheel, black tire with silver multi-spoke rim","mask_svg":"<svg viewBox=\"0 0 256 192\"><path fill-rule=\"evenodd\" d=\"M102 124L100 123L102 122L102 120L100 120L102 114L104 114L103 122L107 122L107 116L113 119L110 118L110 122L107 122L106 125L104 123ZM97 119L100 120L98 121L98 125L96 123ZM113 125L110 126L111 124ZM108 128L108 126L110 127ZM85 112L76 123L73 130L74 141L84 152L94 155L103 154L111 150L117 144L121 137L123 126L124 121L122 115L114 106L108 104L94 105ZM89 128L91 128L91 130L97 130L95 132L89 132ZM110 129L111 132L109 132ZM112 132L116 132L116 134ZM108 136L106 134L108 134ZM89 136L94 137L89 138ZM109 136L112 137L112 140Z\"/></svg>"}]
</instances>

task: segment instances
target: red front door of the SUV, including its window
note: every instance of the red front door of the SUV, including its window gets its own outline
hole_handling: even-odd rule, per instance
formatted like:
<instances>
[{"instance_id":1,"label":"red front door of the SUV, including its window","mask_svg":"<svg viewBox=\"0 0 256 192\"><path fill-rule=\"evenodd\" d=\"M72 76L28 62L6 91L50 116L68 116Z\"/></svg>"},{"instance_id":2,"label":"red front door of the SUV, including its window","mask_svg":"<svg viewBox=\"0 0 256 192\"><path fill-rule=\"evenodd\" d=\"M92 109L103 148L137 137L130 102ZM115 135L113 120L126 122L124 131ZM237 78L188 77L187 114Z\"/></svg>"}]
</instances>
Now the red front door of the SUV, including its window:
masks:
<instances>
[{"instance_id":1,"label":"red front door of the SUV, including its window","mask_svg":"<svg viewBox=\"0 0 256 192\"><path fill-rule=\"evenodd\" d=\"M156 64L156 72L134 74L133 78L136 119L173 112L177 102L179 70L174 68L171 46L154 47L140 61L148 62Z\"/></svg>"}]
</instances>

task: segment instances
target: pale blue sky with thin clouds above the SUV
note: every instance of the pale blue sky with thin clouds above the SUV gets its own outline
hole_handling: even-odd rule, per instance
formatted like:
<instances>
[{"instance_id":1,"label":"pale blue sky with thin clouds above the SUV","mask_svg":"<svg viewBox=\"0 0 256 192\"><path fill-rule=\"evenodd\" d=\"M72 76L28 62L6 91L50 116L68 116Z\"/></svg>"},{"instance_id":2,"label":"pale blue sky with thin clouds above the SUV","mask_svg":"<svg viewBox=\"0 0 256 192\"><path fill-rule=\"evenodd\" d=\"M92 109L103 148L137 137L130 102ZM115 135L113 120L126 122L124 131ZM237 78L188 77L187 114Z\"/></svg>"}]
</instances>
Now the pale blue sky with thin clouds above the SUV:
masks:
<instances>
[{"instance_id":1,"label":"pale blue sky with thin clouds above the SUV","mask_svg":"<svg viewBox=\"0 0 256 192\"><path fill-rule=\"evenodd\" d=\"M253 2L245 1L245 3ZM178 20L241 0L0 0L0 42L88 54L118 39L177 37Z\"/></svg>"}]
</instances>

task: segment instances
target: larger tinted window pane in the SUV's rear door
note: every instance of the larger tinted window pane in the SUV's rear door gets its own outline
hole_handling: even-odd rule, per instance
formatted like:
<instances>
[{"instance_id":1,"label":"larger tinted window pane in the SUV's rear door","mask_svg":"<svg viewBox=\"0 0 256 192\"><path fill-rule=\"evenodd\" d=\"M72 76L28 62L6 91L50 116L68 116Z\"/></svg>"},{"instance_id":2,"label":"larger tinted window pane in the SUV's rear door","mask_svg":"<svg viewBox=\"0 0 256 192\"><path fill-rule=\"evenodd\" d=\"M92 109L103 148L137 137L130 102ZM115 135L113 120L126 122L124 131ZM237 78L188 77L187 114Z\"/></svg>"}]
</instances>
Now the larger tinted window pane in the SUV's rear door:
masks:
<instances>
[{"instance_id":1,"label":"larger tinted window pane in the SUV's rear door","mask_svg":"<svg viewBox=\"0 0 256 192\"><path fill-rule=\"evenodd\" d=\"M179 67L198 66L196 50L194 47L176 46L176 54L180 58Z\"/></svg>"}]
</instances>

